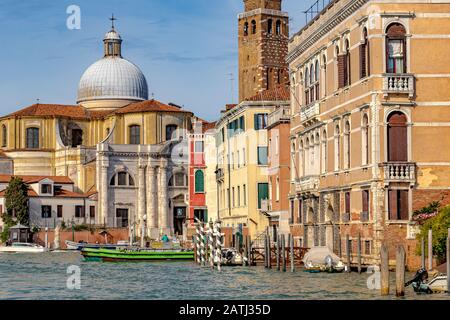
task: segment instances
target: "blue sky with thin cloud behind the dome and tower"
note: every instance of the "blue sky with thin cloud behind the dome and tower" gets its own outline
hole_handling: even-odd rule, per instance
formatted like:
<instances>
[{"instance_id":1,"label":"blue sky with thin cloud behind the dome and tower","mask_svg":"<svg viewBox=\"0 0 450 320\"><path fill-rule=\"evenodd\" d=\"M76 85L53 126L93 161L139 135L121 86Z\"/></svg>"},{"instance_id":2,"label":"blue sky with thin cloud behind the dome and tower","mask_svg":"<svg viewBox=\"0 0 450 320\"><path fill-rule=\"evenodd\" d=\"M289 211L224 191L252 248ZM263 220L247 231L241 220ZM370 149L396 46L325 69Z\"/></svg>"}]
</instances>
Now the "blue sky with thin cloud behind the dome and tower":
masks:
<instances>
[{"instance_id":1,"label":"blue sky with thin cloud behind the dome and tower","mask_svg":"<svg viewBox=\"0 0 450 320\"><path fill-rule=\"evenodd\" d=\"M284 0L291 33L314 0ZM66 9L81 8L81 30ZM237 102L237 14L242 0L0 0L1 115L41 103L74 104L85 69L102 57L111 13L123 56L137 64L155 98L207 120ZM231 101L231 100L234 101Z\"/></svg>"}]
</instances>

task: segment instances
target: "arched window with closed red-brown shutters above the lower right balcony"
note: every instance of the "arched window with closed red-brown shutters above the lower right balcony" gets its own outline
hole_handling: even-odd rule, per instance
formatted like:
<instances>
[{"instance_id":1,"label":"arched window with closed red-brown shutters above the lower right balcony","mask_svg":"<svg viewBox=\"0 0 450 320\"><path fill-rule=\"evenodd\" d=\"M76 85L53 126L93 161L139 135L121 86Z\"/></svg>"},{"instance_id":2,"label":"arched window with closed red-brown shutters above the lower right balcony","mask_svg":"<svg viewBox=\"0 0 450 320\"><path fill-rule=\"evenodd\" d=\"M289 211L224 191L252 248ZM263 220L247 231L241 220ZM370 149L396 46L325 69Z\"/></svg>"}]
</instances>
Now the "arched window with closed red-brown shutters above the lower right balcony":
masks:
<instances>
[{"instance_id":1,"label":"arched window with closed red-brown shutters above the lower right balcony","mask_svg":"<svg viewBox=\"0 0 450 320\"><path fill-rule=\"evenodd\" d=\"M388 161L408 161L408 127L406 115L392 112L388 118Z\"/></svg>"}]
</instances>

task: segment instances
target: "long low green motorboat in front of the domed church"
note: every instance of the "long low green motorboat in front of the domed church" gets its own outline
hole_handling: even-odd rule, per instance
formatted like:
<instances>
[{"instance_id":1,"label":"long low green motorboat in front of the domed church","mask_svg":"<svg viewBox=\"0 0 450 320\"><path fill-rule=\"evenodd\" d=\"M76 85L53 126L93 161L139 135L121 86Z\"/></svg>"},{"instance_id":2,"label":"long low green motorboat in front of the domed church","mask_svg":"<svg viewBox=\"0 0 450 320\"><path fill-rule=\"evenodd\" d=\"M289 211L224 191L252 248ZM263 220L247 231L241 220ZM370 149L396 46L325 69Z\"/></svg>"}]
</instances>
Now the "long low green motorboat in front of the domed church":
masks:
<instances>
[{"instance_id":1,"label":"long low green motorboat in front of the domed church","mask_svg":"<svg viewBox=\"0 0 450 320\"><path fill-rule=\"evenodd\" d=\"M120 261L165 261L194 260L194 251L167 249L94 249L84 248L81 254L86 261L120 262Z\"/></svg>"}]
</instances>

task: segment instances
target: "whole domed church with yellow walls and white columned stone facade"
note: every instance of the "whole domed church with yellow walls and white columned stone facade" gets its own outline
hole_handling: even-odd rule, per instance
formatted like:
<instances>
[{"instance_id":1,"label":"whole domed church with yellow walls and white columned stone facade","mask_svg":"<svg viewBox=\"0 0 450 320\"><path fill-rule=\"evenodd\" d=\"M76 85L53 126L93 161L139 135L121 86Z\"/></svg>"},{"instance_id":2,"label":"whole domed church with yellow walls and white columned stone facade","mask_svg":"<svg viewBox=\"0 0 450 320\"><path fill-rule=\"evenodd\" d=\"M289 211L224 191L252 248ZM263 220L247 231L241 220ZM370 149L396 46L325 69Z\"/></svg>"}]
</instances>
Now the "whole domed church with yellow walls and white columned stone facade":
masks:
<instances>
[{"instance_id":1,"label":"whole domed church with yellow walls and white columned stone facade","mask_svg":"<svg viewBox=\"0 0 450 320\"><path fill-rule=\"evenodd\" d=\"M144 74L122 57L114 21L103 45L75 105L37 103L0 118L0 174L67 176L96 200L97 225L153 239L180 234L193 114L148 99Z\"/></svg>"}]
</instances>

